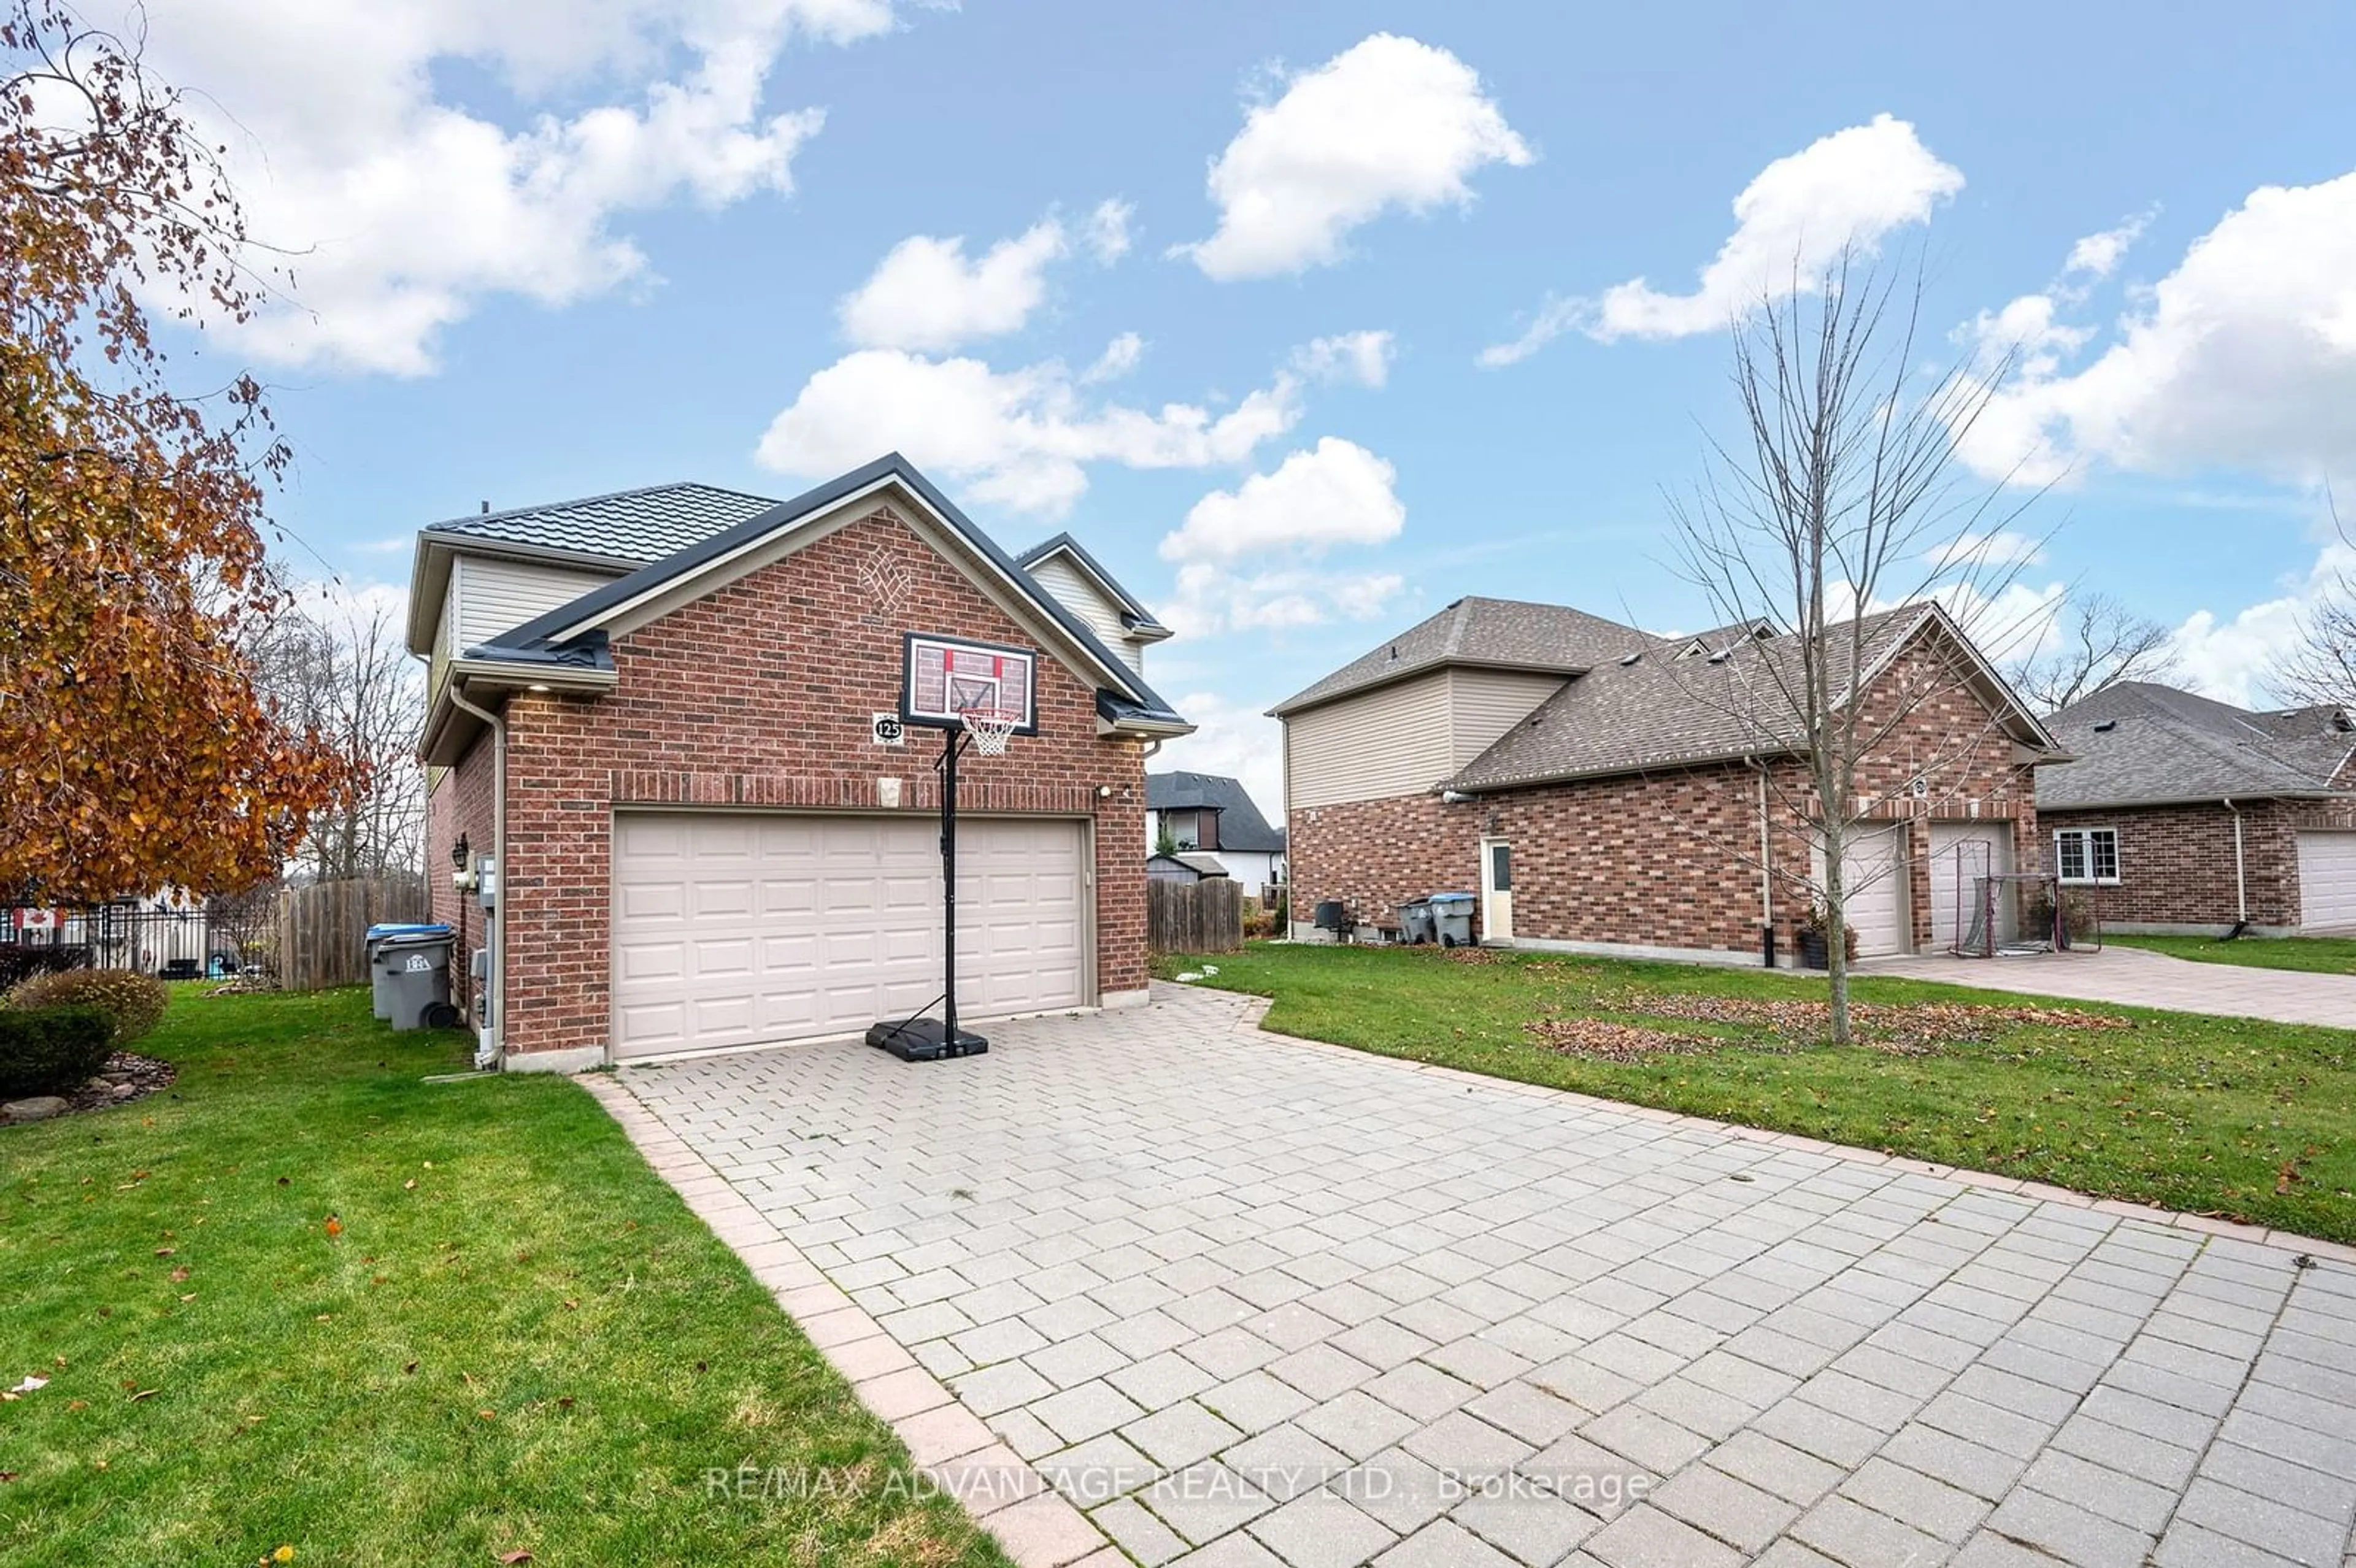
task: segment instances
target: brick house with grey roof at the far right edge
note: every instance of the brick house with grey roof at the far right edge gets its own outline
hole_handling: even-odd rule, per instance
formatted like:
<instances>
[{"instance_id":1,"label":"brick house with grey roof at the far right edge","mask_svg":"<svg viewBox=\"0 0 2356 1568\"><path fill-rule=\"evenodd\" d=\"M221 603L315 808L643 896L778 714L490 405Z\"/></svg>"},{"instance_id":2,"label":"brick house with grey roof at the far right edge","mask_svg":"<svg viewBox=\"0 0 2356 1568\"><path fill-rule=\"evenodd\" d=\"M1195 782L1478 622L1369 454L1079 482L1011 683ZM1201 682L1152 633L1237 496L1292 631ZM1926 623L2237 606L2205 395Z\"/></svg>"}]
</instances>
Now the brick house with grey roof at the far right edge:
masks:
<instances>
[{"instance_id":1,"label":"brick house with grey roof at the far right edge","mask_svg":"<svg viewBox=\"0 0 2356 1568\"><path fill-rule=\"evenodd\" d=\"M2054 871L2118 930L2356 930L2356 723L2125 680L2045 720Z\"/></svg>"}]
</instances>

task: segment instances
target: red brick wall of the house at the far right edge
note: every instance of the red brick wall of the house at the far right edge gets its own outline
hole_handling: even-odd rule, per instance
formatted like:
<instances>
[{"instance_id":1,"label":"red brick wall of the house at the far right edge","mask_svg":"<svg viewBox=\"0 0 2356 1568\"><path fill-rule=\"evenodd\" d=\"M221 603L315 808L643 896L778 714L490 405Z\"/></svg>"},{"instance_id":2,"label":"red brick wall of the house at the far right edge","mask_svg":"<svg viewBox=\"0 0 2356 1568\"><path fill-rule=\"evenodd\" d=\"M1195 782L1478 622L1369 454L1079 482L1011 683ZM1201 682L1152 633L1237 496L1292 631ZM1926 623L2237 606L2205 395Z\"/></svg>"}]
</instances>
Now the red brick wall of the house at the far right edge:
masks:
<instances>
[{"instance_id":1,"label":"red brick wall of the house at the far right edge","mask_svg":"<svg viewBox=\"0 0 2356 1568\"><path fill-rule=\"evenodd\" d=\"M2356 826L2349 805L2302 800L2236 800L2243 815L2241 852L2252 925L2299 923L2299 826ZM2233 812L2222 800L2144 805L2135 810L2043 815L2045 864L2052 831L2064 826L2118 829L2118 885L2090 888L2106 925L2231 925Z\"/></svg>"}]
</instances>

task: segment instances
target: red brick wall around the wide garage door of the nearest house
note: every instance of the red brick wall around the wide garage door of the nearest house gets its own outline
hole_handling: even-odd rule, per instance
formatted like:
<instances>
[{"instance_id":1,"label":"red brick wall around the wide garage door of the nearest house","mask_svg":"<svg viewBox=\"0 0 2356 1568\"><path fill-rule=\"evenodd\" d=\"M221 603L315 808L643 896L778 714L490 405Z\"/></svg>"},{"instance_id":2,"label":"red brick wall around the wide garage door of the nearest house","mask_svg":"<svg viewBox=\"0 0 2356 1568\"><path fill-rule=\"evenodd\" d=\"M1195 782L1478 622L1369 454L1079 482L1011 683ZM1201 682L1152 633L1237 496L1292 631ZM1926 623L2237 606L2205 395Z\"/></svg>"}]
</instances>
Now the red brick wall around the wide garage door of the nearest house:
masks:
<instances>
[{"instance_id":1,"label":"red brick wall around the wide garage door of the nearest house","mask_svg":"<svg viewBox=\"0 0 2356 1568\"><path fill-rule=\"evenodd\" d=\"M869 610L876 549L909 572L905 605ZM900 706L900 633L1032 643L898 518L876 513L615 640L605 697L516 695L507 706L507 1048L605 1045L615 805L938 812L938 739L874 746L869 713ZM478 746L478 753L485 749ZM1098 800L1098 784L1112 798ZM1039 662L1039 735L959 770L959 810L1096 822L1096 982L1145 984L1145 760L1096 737L1096 690ZM441 829L436 829L441 831ZM469 829L488 843L488 829ZM443 845L448 848L448 845Z\"/></svg>"}]
</instances>

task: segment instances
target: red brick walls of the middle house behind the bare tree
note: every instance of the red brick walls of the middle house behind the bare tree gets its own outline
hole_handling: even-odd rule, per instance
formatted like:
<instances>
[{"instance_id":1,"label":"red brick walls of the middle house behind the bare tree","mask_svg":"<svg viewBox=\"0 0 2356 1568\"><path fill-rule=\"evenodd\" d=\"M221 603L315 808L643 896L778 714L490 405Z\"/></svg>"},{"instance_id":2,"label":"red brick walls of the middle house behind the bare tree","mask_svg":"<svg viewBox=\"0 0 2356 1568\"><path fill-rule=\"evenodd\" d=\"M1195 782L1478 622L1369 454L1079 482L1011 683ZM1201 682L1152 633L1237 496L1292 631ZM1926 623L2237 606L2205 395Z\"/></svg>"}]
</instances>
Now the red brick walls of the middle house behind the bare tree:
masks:
<instances>
[{"instance_id":1,"label":"red brick walls of the middle house behind the bare tree","mask_svg":"<svg viewBox=\"0 0 2356 1568\"><path fill-rule=\"evenodd\" d=\"M1892 664L1868 692L1866 723L1887 727L1857 770L1866 815L1908 822L1915 946L1930 944L1930 822L2014 824L2014 857L2038 864L2029 770L1986 702L1930 655ZM1922 777L1927 796L1908 784ZM1793 949L1805 909L1809 836L1805 770L1774 768L1769 866L1776 944ZM1741 765L1581 779L1444 805L1437 793L1291 812L1293 921L1319 899L1355 918L1392 918L1402 899L1480 890L1480 841L1513 843L1517 939L1760 951L1760 779Z\"/></svg>"}]
</instances>

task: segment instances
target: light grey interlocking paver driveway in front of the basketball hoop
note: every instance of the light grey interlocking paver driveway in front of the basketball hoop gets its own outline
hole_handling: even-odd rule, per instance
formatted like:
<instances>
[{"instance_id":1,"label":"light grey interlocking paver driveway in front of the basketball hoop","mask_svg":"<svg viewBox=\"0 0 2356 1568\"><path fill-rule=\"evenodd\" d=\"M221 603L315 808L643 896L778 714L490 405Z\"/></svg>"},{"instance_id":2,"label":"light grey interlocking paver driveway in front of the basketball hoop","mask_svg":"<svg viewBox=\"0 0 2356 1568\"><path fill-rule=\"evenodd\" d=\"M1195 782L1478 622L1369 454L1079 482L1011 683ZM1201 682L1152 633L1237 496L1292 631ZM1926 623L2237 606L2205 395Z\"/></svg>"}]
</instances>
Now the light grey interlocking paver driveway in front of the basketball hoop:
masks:
<instances>
[{"instance_id":1,"label":"light grey interlocking paver driveway in front of the basketball hoop","mask_svg":"<svg viewBox=\"0 0 2356 1568\"><path fill-rule=\"evenodd\" d=\"M1020 1455L1140 1563L2344 1561L2347 1250L1154 996L598 1092L919 1462ZM1119 1561L1051 1495L973 1507Z\"/></svg>"}]
</instances>

